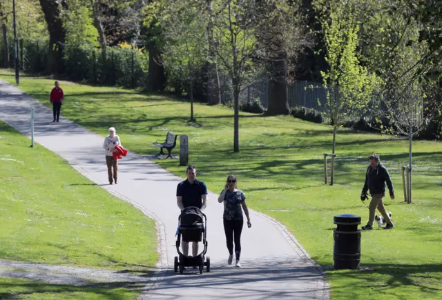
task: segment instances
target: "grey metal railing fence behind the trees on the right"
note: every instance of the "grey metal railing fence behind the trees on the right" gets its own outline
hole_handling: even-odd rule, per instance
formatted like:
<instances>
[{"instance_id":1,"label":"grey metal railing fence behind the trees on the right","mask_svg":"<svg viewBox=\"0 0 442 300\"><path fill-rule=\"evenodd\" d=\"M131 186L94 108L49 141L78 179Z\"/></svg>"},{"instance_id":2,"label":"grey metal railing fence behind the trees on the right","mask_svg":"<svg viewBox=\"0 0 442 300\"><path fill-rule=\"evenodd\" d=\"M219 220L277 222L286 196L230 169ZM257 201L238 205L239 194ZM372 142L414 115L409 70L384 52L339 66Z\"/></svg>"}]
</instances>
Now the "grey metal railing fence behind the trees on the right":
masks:
<instances>
[{"instance_id":1,"label":"grey metal railing fence behind the trees on the right","mask_svg":"<svg viewBox=\"0 0 442 300\"><path fill-rule=\"evenodd\" d=\"M221 77L221 101L222 103L233 102L233 90L228 77ZM290 108L304 108L307 112L315 112L327 116L327 89L322 83L314 81L295 81L287 84L287 97ZM252 83L240 92L240 105L250 101L260 101L262 107L269 107L269 81L262 80ZM345 110L348 112L348 110ZM357 122L360 119L371 119L369 112L354 111L346 114L341 121Z\"/></svg>"}]
</instances>

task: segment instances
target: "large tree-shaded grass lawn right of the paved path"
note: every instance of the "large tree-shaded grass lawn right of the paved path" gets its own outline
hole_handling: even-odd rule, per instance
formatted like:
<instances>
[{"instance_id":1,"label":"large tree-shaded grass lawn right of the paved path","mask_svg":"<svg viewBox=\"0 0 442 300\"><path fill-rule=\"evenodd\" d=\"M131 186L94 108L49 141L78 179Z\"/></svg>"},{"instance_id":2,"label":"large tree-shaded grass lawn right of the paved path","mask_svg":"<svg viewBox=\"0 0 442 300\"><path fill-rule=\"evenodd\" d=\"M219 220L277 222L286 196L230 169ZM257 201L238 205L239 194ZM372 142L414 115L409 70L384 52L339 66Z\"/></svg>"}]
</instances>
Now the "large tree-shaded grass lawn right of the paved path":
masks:
<instances>
[{"instance_id":1,"label":"large tree-shaded grass lawn right of the paved path","mask_svg":"<svg viewBox=\"0 0 442 300\"><path fill-rule=\"evenodd\" d=\"M14 82L11 74L2 71L0 77ZM52 84L53 79L22 77L20 88L49 105ZM363 232L362 265L368 270L327 270L332 299L442 298L442 143L414 142L414 204L407 205L400 175L407 164L405 140L340 130L336 185L330 187L323 184L323 153L332 148L329 126L241 113L240 153L233 153L230 108L195 104L196 122L189 123L189 103L170 97L68 82L61 87L65 117L102 135L115 126L123 145L140 154L156 154L152 143L164 140L167 130L187 134L189 163L209 190L222 190L227 175L236 174L249 206L284 223L326 267L333 265L333 216L352 213L367 220L359 195L367 157L378 152L396 188L396 199L385 199L396 228ZM155 161L184 177L176 159ZM248 251L253 250L244 246L245 256Z\"/></svg>"}]
</instances>

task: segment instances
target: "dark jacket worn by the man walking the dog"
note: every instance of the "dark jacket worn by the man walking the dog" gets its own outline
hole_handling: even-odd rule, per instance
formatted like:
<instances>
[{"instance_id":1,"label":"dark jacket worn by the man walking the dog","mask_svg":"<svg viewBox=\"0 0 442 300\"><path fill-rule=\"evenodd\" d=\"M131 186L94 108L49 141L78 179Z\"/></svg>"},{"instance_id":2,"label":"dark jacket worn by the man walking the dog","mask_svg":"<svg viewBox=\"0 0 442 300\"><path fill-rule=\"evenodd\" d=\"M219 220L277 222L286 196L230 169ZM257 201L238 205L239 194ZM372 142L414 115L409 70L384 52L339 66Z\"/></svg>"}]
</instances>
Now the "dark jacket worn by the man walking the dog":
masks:
<instances>
[{"instance_id":1,"label":"dark jacket worn by the man walking the dog","mask_svg":"<svg viewBox=\"0 0 442 300\"><path fill-rule=\"evenodd\" d=\"M393 183L387 168L385 168L382 163L378 164L376 170L373 170L372 166L369 166L367 172L365 172L365 184L362 192L366 193L367 190L369 190L371 195L385 194L386 186L388 186L390 195L393 195Z\"/></svg>"}]
</instances>

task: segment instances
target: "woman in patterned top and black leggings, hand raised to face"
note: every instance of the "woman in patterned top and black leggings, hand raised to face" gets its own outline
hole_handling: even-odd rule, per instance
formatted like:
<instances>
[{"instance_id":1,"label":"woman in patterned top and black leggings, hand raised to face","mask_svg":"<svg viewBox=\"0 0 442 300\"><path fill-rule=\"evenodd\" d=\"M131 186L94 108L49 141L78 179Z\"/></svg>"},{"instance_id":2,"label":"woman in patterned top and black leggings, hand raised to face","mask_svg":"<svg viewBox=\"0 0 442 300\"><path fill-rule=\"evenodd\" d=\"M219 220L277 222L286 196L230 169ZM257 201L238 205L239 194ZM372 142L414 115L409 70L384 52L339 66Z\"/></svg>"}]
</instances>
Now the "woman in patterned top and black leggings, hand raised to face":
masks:
<instances>
[{"instance_id":1,"label":"woman in patterned top and black leggings, hand raised to face","mask_svg":"<svg viewBox=\"0 0 442 300\"><path fill-rule=\"evenodd\" d=\"M238 190L236 177L229 175L227 183L222 190L218 202L224 202L224 232L226 234L227 249L229 250L229 259L227 263L231 265L233 261L233 241L235 241L236 268L241 268L241 232L244 220L242 219L242 209L247 217L247 226L251 228L249 210L246 205L246 196L241 190ZM241 209L242 208L242 209Z\"/></svg>"}]
</instances>

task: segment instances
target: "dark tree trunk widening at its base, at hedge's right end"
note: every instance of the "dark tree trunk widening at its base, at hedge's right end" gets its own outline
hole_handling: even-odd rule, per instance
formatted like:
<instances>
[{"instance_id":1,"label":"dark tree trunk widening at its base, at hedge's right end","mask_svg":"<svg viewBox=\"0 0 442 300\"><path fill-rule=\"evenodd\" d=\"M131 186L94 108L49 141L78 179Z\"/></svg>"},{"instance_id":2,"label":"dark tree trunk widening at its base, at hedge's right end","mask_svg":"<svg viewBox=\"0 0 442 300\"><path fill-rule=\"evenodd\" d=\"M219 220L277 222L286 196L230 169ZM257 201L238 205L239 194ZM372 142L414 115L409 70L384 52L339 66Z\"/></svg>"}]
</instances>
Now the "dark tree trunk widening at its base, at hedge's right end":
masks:
<instances>
[{"instance_id":1,"label":"dark tree trunk widening at its base, at hedge's right end","mask_svg":"<svg viewBox=\"0 0 442 300\"><path fill-rule=\"evenodd\" d=\"M158 63L161 58L161 52L155 45L155 42L148 43L149 68L147 74L146 90L149 92L159 92L164 90L166 76L164 67Z\"/></svg>"}]
</instances>

